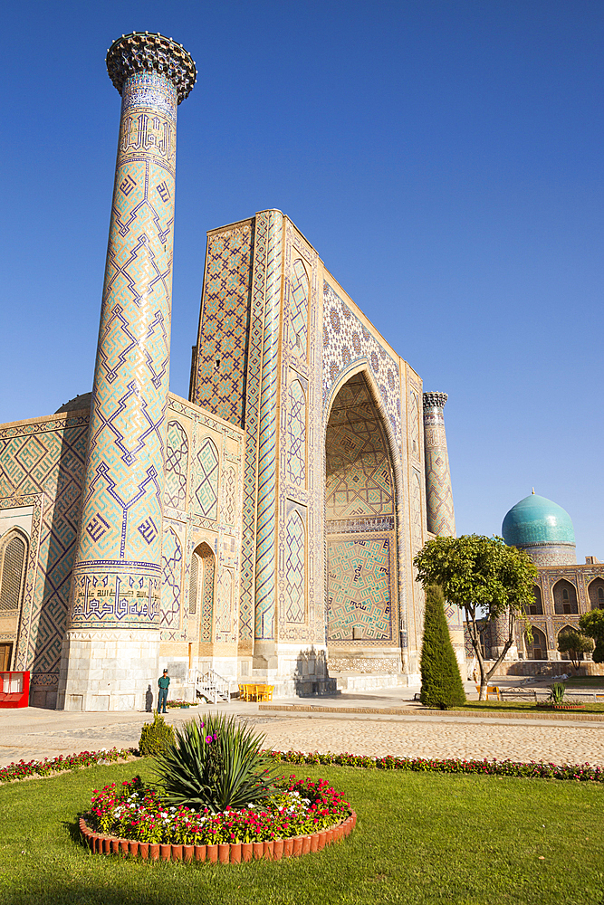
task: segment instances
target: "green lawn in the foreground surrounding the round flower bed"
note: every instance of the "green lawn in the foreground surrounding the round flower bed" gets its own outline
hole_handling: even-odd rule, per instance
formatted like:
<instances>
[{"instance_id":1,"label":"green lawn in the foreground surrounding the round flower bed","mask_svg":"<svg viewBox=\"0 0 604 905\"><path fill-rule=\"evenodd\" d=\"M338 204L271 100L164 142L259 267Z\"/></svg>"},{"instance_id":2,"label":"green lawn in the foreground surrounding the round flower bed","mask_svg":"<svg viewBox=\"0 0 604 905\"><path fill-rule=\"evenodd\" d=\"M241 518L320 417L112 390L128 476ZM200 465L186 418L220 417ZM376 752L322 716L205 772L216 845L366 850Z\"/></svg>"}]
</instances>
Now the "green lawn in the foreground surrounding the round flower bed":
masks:
<instances>
[{"instance_id":1,"label":"green lawn in the foreground surrounding the round flower bed","mask_svg":"<svg viewBox=\"0 0 604 905\"><path fill-rule=\"evenodd\" d=\"M149 761L0 788L3 905L601 905L604 786L493 776L296 767L340 788L350 838L285 862L149 864L91 855L91 790ZM542 857L543 860L540 860Z\"/></svg>"}]
</instances>

